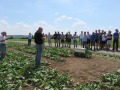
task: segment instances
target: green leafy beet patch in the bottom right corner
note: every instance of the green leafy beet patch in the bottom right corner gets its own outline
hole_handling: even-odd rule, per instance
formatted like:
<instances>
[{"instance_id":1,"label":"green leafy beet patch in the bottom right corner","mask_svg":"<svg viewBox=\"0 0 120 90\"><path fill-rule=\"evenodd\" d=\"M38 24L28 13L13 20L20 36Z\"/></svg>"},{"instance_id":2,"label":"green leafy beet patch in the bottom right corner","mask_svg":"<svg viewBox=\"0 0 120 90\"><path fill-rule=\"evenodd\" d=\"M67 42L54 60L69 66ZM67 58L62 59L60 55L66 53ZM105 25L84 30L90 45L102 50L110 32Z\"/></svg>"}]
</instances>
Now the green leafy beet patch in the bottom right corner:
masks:
<instances>
[{"instance_id":1,"label":"green leafy beet patch in the bottom right corner","mask_svg":"<svg viewBox=\"0 0 120 90\"><path fill-rule=\"evenodd\" d=\"M120 71L103 74L98 81L80 84L75 90L120 90Z\"/></svg>"}]
</instances>

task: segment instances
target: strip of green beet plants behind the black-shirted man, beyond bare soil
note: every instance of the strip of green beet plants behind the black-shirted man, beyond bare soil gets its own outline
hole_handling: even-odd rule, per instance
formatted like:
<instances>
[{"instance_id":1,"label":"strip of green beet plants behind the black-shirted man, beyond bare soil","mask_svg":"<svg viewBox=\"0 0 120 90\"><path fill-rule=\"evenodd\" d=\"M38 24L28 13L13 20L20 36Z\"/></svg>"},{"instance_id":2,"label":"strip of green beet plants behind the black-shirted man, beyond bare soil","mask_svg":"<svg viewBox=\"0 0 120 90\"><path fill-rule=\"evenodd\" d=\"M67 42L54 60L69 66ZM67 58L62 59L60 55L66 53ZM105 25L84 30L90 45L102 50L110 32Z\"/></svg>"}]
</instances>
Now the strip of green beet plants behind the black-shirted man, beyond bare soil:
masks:
<instances>
[{"instance_id":1,"label":"strip of green beet plants behind the black-shirted man, beyond bare soil","mask_svg":"<svg viewBox=\"0 0 120 90\"><path fill-rule=\"evenodd\" d=\"M19 51L23 51L29 54L36 53L35 46L29 46L20 43L8 43L9 47L15 48ZM43 47L43 56L55 61L64 61L64 58L70 57L73 54L72 49L68 48L56 48L56 47Z\"/></svg>"}]
</instances>

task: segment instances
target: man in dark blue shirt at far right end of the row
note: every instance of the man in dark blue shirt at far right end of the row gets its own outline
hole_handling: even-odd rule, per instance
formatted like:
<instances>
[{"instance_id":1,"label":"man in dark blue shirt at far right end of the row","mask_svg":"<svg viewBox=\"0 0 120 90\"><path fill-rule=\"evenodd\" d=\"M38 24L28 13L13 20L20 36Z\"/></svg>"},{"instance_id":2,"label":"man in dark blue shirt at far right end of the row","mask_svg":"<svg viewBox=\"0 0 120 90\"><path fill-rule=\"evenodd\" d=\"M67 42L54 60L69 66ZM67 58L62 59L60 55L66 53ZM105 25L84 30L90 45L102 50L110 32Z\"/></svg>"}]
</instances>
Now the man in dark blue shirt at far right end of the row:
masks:
<instances>
[{"instance_id":1,"label":"man in dark blue shirt at far right end of the row","mask_svg":"<svg viewBox=\"0 0 120 90\"><path fill-rule=\"evenodd\" d=\"M118 43L119 43L119 33L118 33L118 29L115 29L115 33L113 34L113 50L115 49L115 44L116 44L116 51L118 51Z\"/></svg>"}]
</instances>

